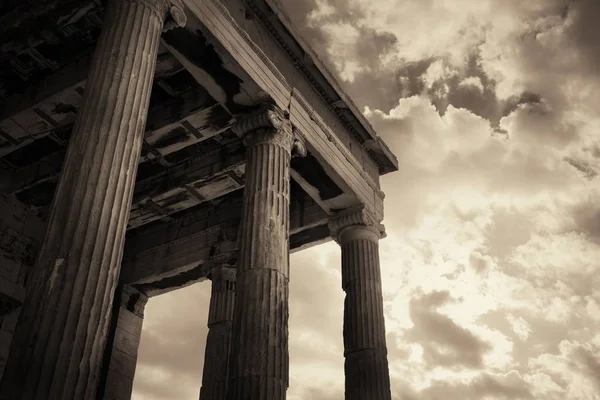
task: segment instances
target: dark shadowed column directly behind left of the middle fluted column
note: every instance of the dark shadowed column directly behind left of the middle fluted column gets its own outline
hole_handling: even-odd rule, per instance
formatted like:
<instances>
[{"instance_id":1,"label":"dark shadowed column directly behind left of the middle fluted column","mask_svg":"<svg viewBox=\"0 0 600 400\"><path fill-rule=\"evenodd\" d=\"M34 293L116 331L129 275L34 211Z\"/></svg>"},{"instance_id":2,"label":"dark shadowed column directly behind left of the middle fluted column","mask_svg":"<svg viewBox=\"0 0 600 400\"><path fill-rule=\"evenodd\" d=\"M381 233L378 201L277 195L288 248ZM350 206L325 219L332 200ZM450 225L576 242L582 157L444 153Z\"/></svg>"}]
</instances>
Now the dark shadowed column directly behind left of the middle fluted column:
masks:
<instances>
[{"instance_id":1,"label":"dark shadowed column directly behind left of the middle fluted column","mask_svg":"<svg viewBox=\"0 0 600 400\"><path fill-rule=\"evenodd\" d=\"M213 268L209 274L212 288L200 400L225 400L227 397L235 274L235 268L231 267Z\"/></svg>"}]
</instances>

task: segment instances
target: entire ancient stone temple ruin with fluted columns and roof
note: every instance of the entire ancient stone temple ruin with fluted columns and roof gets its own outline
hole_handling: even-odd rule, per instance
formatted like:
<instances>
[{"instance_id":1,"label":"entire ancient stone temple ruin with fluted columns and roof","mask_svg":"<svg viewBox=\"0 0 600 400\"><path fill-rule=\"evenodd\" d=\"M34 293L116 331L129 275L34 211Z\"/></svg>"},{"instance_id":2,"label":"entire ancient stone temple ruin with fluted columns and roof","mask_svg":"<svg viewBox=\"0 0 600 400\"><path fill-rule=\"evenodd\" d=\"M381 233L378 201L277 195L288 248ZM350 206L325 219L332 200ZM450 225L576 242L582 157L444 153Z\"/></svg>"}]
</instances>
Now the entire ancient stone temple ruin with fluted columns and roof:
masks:
<instances>
[{"instance_id":1,"label":"entire ancient stone temple ruin with fluted columns and roof","mask_svg":"<svg viewBox=\"0 0 600 400\"><path fill-rule=\"evenodd\" d=\"M129 399L147 299L203 280L200 398L285 399L289 252L332 239L346 399L390 399L397 161L277 0L6 0L0 41L0 399Z\"/></svg>"}]
</instances>

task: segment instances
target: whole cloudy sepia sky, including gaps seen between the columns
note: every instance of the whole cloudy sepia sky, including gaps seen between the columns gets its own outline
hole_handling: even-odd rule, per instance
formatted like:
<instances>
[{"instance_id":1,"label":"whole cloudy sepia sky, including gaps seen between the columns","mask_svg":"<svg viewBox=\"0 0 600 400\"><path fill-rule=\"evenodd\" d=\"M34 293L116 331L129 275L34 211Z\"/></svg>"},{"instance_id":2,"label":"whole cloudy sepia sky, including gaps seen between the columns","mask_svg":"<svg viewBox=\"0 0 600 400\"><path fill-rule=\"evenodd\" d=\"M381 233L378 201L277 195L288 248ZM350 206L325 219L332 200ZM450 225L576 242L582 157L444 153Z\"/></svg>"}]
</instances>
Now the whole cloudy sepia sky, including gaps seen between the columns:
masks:
<instances>
[{"instance_id":1,"label":"whole cloudy sepia sky, including gaps seen between the columns","mask_svg":"<svg viewBox=\"0 0 600 400\"><path fill-rule=\"evenodd\" d=\"M600 2L284 4L400 162L392 397L600 399ZM288 399L343 399L340 251L291 261ZM209 293L149 301L134 399L197 400Z\"/></svg>"}]
</instances>

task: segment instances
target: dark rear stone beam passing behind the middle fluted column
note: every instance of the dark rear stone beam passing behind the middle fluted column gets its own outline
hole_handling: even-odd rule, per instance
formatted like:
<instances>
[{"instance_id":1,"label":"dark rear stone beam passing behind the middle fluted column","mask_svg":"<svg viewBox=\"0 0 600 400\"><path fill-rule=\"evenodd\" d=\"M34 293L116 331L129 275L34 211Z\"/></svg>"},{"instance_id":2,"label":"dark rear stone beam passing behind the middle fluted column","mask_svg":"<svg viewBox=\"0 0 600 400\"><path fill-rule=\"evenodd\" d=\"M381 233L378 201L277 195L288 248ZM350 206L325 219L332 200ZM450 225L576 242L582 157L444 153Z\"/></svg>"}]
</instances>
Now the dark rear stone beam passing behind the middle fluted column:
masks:
<instances>
[{"instance_id":1,"label":"dark rear stone beam passing behind the middle fluted column","mask_svg":"<svg viewBox=\"0 0 600 400\"><path fill-rule=\"evenodd\" d=\"M328 241L327 214L297 185L292 187L290 249ZM233 265L241 211L242 191L238 191L169 223L132 231L125 243L121 283L152 296L205 279L213 264Z\"/></svg>"}]
</instances>

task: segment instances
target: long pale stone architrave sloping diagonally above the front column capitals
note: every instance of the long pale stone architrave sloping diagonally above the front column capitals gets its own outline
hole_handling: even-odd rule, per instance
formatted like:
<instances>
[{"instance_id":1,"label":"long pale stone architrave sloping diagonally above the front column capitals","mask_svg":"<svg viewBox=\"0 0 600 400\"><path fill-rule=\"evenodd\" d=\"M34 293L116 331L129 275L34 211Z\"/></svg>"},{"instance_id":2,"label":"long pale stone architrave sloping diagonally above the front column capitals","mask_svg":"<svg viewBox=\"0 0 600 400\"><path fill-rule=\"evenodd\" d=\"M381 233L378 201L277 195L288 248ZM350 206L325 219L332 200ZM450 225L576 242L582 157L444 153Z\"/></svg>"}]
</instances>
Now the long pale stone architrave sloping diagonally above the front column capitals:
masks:
<instances>
[{"instance_id":1,"label":"long pale stone architrave sloping diagonally above the front column capitals","mask_svg":"<svg viewBox=\"0 0 600 400\"><path fill-rule=\"evenodd\" d=\"M314 89L303 89L300 93L297 82L291 79L293 74L300 74L300 71L283 50L275 58L288 60L286 62L290 68L286 70L280 70L271 61L274 57L267 56L261 50L266 45L272 46L269 34L266 31L254 35L248 33L256 32L258 28L252 20L244 17L246 10L239 7L237 2L235 5L232 3L231 7L226 7L219 0L183 0L183 3L189 27L196 21L200 23L205 36L230 63L228 68L235 70L242 81L254 81L277 106L289 112L290 120L304 139L309 153L346 195L343 208L363 204L381 220L383 193L379 189L378 170L374 161L365 149L350 149L338 136L341 130L335 121L328 119L326 122L321 116L325 111L313 108L314 102L308 101L305 95L310 95L312 99ZM262 39L257 44L251 36ZM332 129L336 129L336 133ZM329 207L330 210L332 208Z\"/></svg>"}]
</instances>

